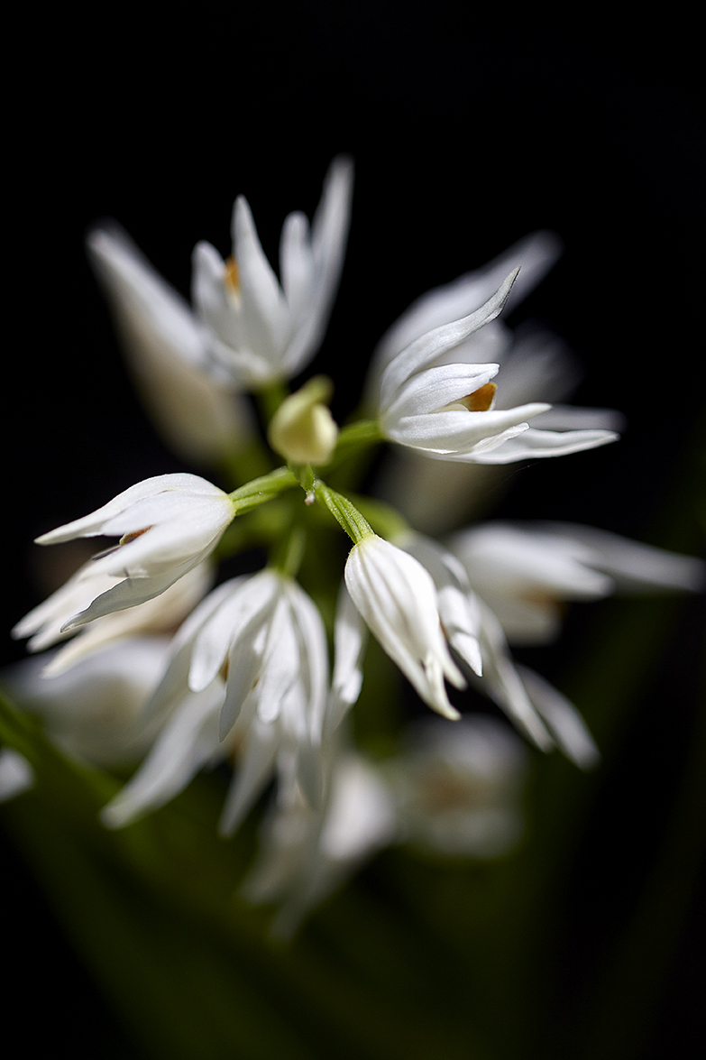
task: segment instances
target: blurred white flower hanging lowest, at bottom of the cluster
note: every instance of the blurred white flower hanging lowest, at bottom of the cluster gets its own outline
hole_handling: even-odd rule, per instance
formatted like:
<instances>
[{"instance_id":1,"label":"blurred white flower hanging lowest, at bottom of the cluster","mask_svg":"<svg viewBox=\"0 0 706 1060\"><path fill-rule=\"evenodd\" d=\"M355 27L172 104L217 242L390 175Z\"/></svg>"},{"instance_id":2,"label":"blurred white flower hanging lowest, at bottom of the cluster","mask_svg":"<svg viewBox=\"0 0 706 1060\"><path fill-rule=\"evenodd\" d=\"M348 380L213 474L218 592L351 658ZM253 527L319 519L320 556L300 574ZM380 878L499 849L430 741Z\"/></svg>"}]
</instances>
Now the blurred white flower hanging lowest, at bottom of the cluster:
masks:
<instances>
[{"instance_id":1,"label":"blurred white flower hanging lowest, at bottom of the cluster","mask_svg":"<svg viewBox=\"0 0 706 1060\"><path fill-rule=\"evenodd\" d=\"M395 806L384 775L359 755L332 756L325 790L318 810L289 790L264 820L244 894L257 904L279 906L276 935L292 935L308 909L396 836Z\"/></svg>"}]
</instances>

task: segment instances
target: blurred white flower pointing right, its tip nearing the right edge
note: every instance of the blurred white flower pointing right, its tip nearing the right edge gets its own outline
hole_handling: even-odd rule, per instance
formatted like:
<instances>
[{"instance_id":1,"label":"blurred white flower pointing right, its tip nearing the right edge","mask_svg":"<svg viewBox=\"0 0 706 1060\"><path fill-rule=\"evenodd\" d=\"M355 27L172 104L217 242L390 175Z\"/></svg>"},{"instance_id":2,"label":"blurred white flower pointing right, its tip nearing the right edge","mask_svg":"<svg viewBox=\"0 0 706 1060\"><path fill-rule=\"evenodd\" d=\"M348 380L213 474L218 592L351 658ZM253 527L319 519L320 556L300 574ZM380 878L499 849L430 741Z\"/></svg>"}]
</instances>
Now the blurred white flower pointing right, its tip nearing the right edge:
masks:
<instances>
[{"instance_id":1,"label":"blurred white flower pointing right, its tip nearing the right edge","mask_svg":"<svg viewBox=\"0 0 706 1060\"><path fill-rule=\"evenodd\" d=\"M553 640L567 600L698 589L706 581L700 560L566 523L486 523L456 534L451 547L513 643Z\"/></svg>"}]
</instances>

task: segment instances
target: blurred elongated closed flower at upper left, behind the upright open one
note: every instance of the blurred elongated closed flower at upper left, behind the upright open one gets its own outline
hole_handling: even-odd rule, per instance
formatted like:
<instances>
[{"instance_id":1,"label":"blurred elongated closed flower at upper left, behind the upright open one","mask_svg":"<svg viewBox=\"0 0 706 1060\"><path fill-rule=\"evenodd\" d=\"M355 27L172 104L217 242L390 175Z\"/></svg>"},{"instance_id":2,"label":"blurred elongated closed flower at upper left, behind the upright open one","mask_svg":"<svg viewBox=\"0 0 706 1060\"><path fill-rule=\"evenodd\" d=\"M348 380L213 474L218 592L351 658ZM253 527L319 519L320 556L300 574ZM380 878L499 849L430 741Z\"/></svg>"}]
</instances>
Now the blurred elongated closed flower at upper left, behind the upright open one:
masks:
<instances>
[{"instance_id":1,"label":"blurred elongated closed flower at upper left, behind the upright open one","mask_svg":"<svg viewBox=\"0 0 706 1060\"><path fill-rule=\"evenodd\" d=\"M164 440L197 463L237 452L252 434L252 413L213 364L205 326L120 228L93 229L87 245L137 387Z\"/></svg>"}]
</instances>

